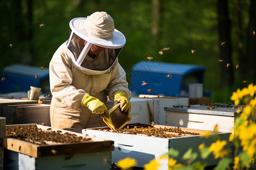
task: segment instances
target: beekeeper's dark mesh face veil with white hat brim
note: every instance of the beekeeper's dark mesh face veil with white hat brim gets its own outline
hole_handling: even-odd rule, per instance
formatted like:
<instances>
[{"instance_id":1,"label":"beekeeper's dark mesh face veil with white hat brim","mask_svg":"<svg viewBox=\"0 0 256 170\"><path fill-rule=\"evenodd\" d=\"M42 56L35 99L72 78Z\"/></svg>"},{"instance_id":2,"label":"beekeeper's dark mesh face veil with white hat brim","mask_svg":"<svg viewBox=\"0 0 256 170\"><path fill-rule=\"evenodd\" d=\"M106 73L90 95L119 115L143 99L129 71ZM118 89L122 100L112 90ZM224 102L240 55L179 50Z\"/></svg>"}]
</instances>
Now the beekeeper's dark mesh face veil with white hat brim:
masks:
<instances>
[{"instance_id":1,"label":"beekeeper's dark mesh face veil with white hat brim","mask_svg":"<svg viewBox=\"0 0 256 170\"><path fill-rule=\"evenodd\" d=\"M65 46L65 50L68 53L68 56L71 57L75 66L82 71L89 71L92 74L102 74L108 71L115 62L115 59L117 59L119 52L123 45L125 45L125 36L115 29L113 38L117 33L119 33L119 37L120 35L123 36L122 44L118 45L113 44L110 40L90 37L85 35L84 32L81 33L81 31L74 27L74 22L79 19L81 20L84 18L75 18L69 23L69 39ZM102 52L95 58L88 56L88 52L93 44L105 48L105 50L102 50Z\"/></svg>"}]
</instances>

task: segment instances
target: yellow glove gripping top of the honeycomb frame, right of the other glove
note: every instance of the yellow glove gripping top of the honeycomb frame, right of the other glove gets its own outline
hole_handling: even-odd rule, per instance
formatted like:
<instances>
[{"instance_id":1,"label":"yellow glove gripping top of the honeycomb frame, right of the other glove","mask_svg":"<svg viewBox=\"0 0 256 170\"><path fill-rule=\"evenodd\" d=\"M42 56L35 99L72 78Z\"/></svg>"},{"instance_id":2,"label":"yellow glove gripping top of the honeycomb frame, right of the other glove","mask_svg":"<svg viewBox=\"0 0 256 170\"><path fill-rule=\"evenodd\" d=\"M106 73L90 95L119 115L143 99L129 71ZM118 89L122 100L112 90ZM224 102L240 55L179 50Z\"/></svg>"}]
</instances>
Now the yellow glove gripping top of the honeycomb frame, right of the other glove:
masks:
<instances>
[{"instance_id":1,"label":"yellow glove gripping top of the honeycomb frame, right of the other glove","mask_svg":"<svg viewBox=\"0 0 256 170\"><path fill-rule=\"evenodd\" d=\"M115 93L114 104L121 103L120 108L121 111L130 113L131 111L131 103L130 100L127 99L127 96L124 92L118 91Z\"/></svg>"}]
</instances>

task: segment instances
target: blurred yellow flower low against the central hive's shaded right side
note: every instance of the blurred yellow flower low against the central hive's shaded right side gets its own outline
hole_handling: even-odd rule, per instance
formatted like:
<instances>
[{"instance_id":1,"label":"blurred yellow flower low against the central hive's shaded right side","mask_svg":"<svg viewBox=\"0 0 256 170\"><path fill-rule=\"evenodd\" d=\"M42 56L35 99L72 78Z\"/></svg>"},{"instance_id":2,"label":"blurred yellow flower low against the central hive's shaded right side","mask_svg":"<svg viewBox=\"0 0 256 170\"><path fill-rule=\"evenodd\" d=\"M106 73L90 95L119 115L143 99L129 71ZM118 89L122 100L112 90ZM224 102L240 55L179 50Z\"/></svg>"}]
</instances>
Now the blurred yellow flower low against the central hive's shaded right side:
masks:
<instances>
[{"instance_id":1,"label":"blurred yellow flower low against the central hive's shaded right side","mask_svg":"<svg viewBox=\"0 0 256 170\"><path fill-rule=\"evenodd\" d=\"M223 158L225 155L229 154L229 150L224 149L224 146L227 144L226 141L216 141L215 143L212 143L209 147L209 151L213 152L214 158Z\"/></svg>"}]
</instances>

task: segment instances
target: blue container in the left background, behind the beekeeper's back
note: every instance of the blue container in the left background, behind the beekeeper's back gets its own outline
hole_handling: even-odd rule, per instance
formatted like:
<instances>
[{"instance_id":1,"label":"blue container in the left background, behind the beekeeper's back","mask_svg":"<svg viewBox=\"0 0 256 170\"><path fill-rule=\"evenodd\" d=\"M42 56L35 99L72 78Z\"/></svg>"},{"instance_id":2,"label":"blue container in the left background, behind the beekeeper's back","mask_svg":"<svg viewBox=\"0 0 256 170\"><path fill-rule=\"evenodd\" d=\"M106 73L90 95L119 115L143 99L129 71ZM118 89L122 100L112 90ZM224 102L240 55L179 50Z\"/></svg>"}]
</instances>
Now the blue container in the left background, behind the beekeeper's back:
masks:
<instances>
[{"instance_id":1,"label":"blue container in the left background, behind the beekeeper's back","mask_svg":"<svg viewBox=\"0 0 256 170\"><path fill-rule=\"evenodd\" d=\"M38 77L35 79L35 76ZM41 87L42 92L49 92L49 69L15 64L3 69L0 82L0 93L27 92L30 86Z\"/></svg>"}]
</instances>

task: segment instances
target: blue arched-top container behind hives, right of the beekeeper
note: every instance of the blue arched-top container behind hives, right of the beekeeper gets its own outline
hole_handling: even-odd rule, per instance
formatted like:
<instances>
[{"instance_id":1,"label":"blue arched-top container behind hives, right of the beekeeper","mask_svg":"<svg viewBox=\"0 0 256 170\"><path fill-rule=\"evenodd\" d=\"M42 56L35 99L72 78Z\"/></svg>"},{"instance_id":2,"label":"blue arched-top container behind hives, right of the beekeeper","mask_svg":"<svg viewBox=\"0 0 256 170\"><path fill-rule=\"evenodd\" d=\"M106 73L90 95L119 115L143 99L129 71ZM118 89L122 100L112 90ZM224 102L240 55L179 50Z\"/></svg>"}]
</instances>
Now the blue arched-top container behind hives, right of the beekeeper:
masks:
<instances>
[{"instance_id":1,"label":"blue arched-top container behind hives, right of the beekeeper","mask_svg":"<svg viewBox=\"0 0 256 170\"><path fill-rule=\"evenodd\" d=\"M189 83L204 83L204 71L199 65L142 61L133 66L129 88L137 95L187 97Z\"/></svg>"}]
</instances>

